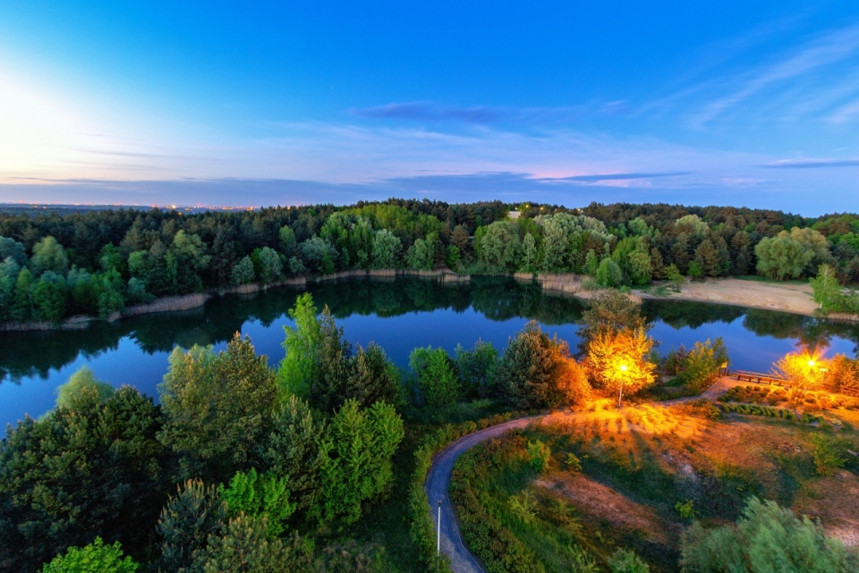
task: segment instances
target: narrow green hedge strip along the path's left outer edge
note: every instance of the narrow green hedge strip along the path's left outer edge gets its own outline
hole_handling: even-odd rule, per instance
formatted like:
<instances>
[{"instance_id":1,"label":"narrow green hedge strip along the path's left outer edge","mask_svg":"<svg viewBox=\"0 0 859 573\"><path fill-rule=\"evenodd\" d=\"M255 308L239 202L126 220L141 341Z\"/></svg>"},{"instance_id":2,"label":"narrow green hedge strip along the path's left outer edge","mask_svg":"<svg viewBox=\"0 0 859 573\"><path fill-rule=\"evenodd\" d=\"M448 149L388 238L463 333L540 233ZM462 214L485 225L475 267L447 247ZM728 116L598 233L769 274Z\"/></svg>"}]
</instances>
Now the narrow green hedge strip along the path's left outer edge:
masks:
<instances>
[{"instance_id":1,"label":"narrow green hedge strip along the path's left outer edge","mask_svg":"<svg viewBox=\"0 0 859 573\"><path fill-rule=\"evenodd\" d=\"M477 430L496 426L515 417L527 415L524 412L507 412L484 418L478 422L463 422L462 424L447 424L429 434L414 452L415 468L412 485L409 491L409 510L412 512L412 542L417 545L420 560L427 565L428 571L449 573L450 564L447 556L436 556L436 524L429 515L429 497L423 488L427 481L432 459L448 445L464 435Z\"/></svg>"}]
</instances>

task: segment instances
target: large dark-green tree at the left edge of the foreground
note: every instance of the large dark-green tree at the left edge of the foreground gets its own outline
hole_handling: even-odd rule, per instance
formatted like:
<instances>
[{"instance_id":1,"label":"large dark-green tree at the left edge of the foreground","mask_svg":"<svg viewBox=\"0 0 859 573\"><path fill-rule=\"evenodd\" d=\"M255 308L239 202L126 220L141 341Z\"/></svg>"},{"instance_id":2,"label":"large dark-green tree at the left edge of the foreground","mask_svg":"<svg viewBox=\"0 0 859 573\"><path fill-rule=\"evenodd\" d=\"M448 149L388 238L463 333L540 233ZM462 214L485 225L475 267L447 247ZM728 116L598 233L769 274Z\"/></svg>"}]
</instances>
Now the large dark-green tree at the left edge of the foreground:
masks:
<instances>
[{"instance_id":1,"label":"large dark-green tree at the left edge of the foreground","mask_svg":"<svg viewBox=\"0 0 859 573\"><path fill-rule=\"evenodd\" d=\"M68 407L24 418L0 442L0 563L33 571L97 535L132 554L166 499L160 410L123 386L102 399L84 388Z\"/></svg>"}]
</instances>

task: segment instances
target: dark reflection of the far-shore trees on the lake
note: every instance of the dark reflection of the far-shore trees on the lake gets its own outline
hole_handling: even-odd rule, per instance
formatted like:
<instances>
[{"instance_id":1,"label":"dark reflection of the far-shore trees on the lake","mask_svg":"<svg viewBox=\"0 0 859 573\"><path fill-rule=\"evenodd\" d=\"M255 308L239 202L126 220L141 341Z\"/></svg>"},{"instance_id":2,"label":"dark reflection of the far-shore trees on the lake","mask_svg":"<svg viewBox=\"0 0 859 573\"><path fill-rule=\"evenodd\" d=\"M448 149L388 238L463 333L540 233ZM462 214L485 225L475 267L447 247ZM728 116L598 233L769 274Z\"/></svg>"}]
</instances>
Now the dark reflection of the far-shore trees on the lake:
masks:
<instances>
[{"instance_id":1,"label":"dark reflection of the far-shore trees on the lake","mask_svg":"<svg viewBox=\"0 0 859 573\"><path fill-rule=\"evenodd\" d=\"M490 320L533 318L549 325L572 324L582 316L577 299L544 295L540 286L505 277L475 277L471 282L444 284L404 278L395 281L352 280L310 285L319 308L327 305L338 318L352 315L401 316L413 312L472 308ZM47 378L80 355L98 356L115 350L128 336L152 354L178 344L217 344L228 341L242 324L259 321L270 326L292 308L299 291L282 288L259 295L211 299L205 308L182 313L135 316L115 324L95 323L84 331L0 333L0 381L24 377ZM746 329L761 336L796 338L806 344L828 344L833 337L859 342L859 324L833 323L809 316L752 308L682 301L645 301L644 315L674 327L732 323L743 318Z\"/></svg>"}]
</instances>

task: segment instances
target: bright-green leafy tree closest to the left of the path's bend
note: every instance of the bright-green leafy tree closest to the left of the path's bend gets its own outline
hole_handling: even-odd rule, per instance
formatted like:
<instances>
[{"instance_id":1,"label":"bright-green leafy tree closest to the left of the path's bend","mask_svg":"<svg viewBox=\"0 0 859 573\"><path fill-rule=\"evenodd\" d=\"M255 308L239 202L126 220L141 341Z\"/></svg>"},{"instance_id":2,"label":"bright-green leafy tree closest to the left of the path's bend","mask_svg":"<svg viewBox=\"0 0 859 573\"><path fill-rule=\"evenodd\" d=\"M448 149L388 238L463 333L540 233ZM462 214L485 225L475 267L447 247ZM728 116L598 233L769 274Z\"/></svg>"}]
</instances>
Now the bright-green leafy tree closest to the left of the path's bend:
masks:
<instances>
[{"instance_id":1,"label":"bright-green leafy tree closest to the left of the path's bend","mask_svg":"<svg viewBox=\"0 0 859 573\"><path fill-rule=\"evenodd\" d=\"M393 483L391 459L403 440L403 420L390 404L360 409L349 400L331 420L330 457L322 468L319 518L344 524Z\"/></svg>"}]
</instances>

